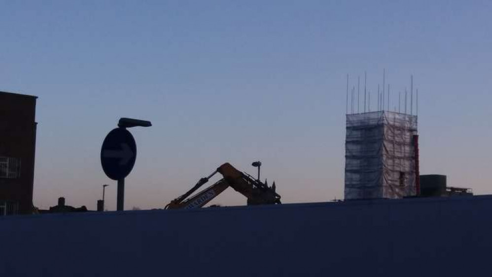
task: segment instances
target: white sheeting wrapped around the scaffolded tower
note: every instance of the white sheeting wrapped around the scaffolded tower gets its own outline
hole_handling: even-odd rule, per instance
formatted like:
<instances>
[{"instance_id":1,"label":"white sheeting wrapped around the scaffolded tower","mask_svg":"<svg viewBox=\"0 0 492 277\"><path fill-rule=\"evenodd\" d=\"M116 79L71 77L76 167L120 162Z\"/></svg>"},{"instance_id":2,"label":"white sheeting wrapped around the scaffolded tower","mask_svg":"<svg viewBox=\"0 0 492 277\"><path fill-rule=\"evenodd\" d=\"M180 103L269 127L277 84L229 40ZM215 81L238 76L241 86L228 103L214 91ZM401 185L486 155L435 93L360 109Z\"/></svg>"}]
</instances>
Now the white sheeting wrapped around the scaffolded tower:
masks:
<instances>
[{"instance_id":1,"label":"white sheeting wrapped around the scaffolded tower","mask_svg":"<svg viewBox=\"0 0 492 277\"><path fill-rule=\"evenodd\" d=\"M391 111L347 115L345 199L416 194L417 116Z\"/></svg>"}]
</instances>

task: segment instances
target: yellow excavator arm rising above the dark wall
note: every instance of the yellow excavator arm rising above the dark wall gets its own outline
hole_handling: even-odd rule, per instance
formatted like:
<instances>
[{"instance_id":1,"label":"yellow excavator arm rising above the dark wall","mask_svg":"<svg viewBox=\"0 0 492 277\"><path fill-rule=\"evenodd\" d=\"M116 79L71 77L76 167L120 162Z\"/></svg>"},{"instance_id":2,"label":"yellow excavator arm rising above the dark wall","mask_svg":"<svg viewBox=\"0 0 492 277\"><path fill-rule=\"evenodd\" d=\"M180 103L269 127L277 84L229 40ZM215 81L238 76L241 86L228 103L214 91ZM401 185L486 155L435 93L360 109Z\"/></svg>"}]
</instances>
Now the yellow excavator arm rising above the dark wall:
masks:
<instances>
[{"instance_id":1,"label":"yellow excavator arm rising above the dark wall","mask_svg":"<svg viewBox=\"0 0 492 277\"><path fill-rule=\"evenodd\" d=\"M222 179L218 180L216 183L196 195L188 198L192 193L207 183L209 179L217 172L222 174ZM229 186L246 196L247 205L281 204L280 195L275 192L275 182L271 187L269 187L260 180L254 179L251 175L242 173L235 169L231 166L231 164L225 163L209 176L201 178L196 185L185 194L171 201L171 203L166 205L166 209L201 208Z\"/></svg>"}]
</instances>

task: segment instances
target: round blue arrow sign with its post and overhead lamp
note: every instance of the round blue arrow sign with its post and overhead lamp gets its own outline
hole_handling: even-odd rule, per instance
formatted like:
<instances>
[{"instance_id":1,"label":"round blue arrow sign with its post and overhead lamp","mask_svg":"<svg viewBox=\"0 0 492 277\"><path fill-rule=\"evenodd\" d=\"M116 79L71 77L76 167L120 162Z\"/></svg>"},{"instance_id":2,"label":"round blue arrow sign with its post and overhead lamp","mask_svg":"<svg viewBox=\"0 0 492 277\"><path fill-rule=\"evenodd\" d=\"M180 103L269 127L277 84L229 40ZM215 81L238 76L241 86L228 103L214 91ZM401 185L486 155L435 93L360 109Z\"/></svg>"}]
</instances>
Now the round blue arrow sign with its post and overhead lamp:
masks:
<instances>
[{"instance_id":1,"label":"round blue arrow sign with its post and overhead lamp","mask_svg":"<svg viewBox=\"0 0 492 277\"><path fill-rule=\"evenodd\" d=\"M118 182L116 210L124 209L125 177L130 174L137 159L137 144L132 134L126 130L131 127L150 127L150 121L120 118L118 128L107 134L101 147L101 165L104 173Z\"/></svg>"}]
</instances>

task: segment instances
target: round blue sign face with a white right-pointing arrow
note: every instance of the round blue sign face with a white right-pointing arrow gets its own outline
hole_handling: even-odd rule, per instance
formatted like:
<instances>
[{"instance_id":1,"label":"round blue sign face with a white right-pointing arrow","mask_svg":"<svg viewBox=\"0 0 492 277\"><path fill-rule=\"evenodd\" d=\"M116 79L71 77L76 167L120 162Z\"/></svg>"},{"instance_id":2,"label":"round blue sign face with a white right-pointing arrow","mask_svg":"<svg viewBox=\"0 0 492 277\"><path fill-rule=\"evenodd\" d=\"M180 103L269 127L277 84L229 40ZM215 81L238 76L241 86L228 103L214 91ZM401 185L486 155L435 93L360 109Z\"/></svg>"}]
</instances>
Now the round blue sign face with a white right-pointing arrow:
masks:
<instances>
[{"instance_id":1,"label":"round blue sign face with a white right-pointing arrow","mask_svg":"<svg viewBox=\"0 0 492 277\"><path fill-rule=\"evenodd\" d=\"M125 128L115 128L107 134L101 147L101 165L104 173L113 179L123 179L133 169L137 158L137 145Z\"/></svg>"}]
</instances>

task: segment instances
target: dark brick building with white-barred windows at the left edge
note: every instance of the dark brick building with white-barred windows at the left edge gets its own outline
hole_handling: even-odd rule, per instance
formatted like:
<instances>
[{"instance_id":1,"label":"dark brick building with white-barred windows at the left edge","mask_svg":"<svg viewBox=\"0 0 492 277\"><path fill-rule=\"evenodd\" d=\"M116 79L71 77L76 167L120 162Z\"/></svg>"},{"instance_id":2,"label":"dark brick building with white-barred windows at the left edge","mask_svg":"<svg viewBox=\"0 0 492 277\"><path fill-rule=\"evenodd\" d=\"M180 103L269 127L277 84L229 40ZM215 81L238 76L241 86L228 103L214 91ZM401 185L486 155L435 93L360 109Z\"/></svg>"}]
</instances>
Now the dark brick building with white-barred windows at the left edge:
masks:
<instances>
[{"instance_id":1,"label":"dark brick building with white-barred windows at the left edge","mask_svg":"<svg viewBox=\"0 0 492 277\"><path fill-rule=\"evenodd\" d=\"M36 99L0 91L0 216L33 212Z\"/></svg>"}]
</instances>

